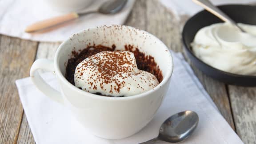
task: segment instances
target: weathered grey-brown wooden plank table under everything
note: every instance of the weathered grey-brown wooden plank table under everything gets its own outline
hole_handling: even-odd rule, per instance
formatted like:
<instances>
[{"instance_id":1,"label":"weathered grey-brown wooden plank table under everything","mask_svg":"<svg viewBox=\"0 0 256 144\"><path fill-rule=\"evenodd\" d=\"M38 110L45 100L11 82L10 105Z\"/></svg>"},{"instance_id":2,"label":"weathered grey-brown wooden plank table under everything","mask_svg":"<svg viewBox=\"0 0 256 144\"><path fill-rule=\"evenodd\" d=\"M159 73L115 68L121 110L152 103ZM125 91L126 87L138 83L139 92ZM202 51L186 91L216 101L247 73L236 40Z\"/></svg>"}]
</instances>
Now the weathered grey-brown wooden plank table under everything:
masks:
<instances>
[{"instance_id":1,"label":"weathered grey-brown wooden plank table under everything","mask_svg":"<svg viewBox=\"0 0 256 144\"><path fill-rule=\"evenodd\" d=\"M158 0L136 0L125 25L146 30L168 48L182 52L181 30L188 16L180 19ZM34 42L0 35L0 144L34 144L15 80L28 77L38 58L53 59L60 43ZM192 65L222 116L246 144L256 144L256 88L227 85L205 76Z\"/></svg>"}]
</instances>

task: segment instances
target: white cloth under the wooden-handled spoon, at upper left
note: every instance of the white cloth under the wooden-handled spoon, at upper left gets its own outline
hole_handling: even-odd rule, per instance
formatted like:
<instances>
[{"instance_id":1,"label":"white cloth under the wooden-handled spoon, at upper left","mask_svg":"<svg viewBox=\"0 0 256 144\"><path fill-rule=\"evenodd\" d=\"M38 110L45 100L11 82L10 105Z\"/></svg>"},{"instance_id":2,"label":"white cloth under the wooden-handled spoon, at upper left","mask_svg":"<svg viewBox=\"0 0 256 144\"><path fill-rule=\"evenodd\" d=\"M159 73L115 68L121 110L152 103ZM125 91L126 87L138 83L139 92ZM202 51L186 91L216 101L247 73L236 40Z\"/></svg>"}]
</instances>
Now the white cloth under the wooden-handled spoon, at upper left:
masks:
<instances>
[{"instance_id":1,"label":"white cloth under the wooden-handled spoon, at upper left","mask_svg":"<svg viewBox=\"0 0 256 144\"><path fill-rule=\"evenodd\" d=\"M95 10L105 1L95 0L84 11ZM29 24L66 13L56 11L46 3L46 0L0 0L0 34L36 41L64 41L73 33L86 28L104 24L123 24L134 2L135 0L128 0L126 6L114 15L90 14L49 32L29 34L24 32Z\"/></svg>"}]
</instances>

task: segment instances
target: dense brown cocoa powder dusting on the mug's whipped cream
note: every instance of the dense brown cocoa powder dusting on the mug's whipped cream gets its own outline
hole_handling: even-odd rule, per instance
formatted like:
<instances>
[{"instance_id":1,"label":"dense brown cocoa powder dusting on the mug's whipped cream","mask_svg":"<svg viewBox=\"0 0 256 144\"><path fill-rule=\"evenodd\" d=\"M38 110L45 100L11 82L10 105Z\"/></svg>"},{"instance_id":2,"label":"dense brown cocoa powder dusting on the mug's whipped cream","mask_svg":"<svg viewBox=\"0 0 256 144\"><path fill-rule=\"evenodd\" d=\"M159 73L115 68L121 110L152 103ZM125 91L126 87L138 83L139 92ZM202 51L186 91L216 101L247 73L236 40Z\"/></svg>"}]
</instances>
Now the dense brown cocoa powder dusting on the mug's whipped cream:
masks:
<instances>
[{"instance_id":1,"label":"dense brown cocoa powder dusting on the mug's whipped cream","mask_svg":"<svg viewBox=\"0 0 256 144\"><path fill-rule=\"evenodd\" d=\"M90 71L97 70L100 75L93 74L90 79L97 82L99 84L101 89L103 89L104 84L109 84L111 82L114 82L116 84L116 87L113 89L117 92L120 92L120 89L124 87L125 82L118 79L113 79L114 76L119 76L123 80L127 76L123 76L124 74L128 73L128 76L130 76L129 73L132 73L132 68L136 67L135 60L129 60L131 52L109 52L104 51L98 54L95 54L93 57L88 57L87 61L82 61L80 63L80 66L76 67L76 70L78 74L75 75L76 78L81 79L80 76L83 75L84 67L91 66L92 69ZM102 57L103 56L103 57ZM99 61L99 63L95 63L96 61ZM130 65L132 67L127 66ZM96 76L96 77L94 77ZM101 81L103 80L103 81ZM92 82L88 82L92 86L93 89L97 89L96 85ZM105 89L106 91L106 89ZM112 88L110 89L109 93L112 93Z\"/></svg>"}]
</instances>

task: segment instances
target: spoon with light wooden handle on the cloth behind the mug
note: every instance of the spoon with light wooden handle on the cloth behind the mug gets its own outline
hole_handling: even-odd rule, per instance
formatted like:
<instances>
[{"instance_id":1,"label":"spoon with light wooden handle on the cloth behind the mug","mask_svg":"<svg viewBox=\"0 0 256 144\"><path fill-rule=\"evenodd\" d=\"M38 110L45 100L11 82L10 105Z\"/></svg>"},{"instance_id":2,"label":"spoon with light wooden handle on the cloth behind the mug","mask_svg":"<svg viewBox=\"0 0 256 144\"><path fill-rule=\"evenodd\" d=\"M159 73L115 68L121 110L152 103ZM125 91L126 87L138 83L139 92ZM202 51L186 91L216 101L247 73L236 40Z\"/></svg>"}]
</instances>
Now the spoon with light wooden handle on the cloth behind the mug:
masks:
<instances>
[{"instance_id":1,"label":"spoon with light wooden handle on the cloth behind the mug","mask_svg":"<svg viewBox=\"0 0 256 144\"><path fill-rule=\"evenodd\" d=\"M72 12L63 16L57 16L47 20L42 20L29 25L25 29L25 32L36 32L46 28L52 28L56 25L63 24L71 20L75 20L80 16L88 15L91 13L99 12L102 14L114 14L119 12L122 8L124 8L126 3L127 3L127 0L110 0L110 1L108 0L104 4L101 4L101 6L95 11L83 12L83 13Z\"/></svg>"}]
</instances>

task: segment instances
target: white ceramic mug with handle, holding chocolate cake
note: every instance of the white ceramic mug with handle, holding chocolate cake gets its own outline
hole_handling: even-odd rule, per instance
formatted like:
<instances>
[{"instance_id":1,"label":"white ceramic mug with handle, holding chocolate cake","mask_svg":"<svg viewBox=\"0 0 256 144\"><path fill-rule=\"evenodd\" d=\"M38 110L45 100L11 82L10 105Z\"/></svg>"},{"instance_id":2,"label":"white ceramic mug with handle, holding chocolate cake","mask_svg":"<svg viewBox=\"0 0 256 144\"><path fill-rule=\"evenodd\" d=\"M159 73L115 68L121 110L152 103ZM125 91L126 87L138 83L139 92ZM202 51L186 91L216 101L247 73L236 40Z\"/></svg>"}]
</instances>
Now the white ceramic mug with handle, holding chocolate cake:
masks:
<instances>
[{"instance_id":1,"label":"white ceramic mug with handle, holding chocolate cake","mask_svg":"<svg viewBox=\"0 0 256 144\"><path fill-rule=\"evenodd\" d=\"M72 51L87 45L101 44L124 50L131 44L140 52L153 56L163 74L163 80L152 90L127 97L99 96L85 92L65 79L65 69ZM60 92L51 88L37 70L53 72ZM139 132L154 117L168 90L173 70L172 56L165 44L148 32L124 25L89 28L72 35L57 49L54 61L39 59L30 70L33 83L52 100L69 107L71 112L92 134L106 139L120 139Z\"/></svg>"}]
</instances>

